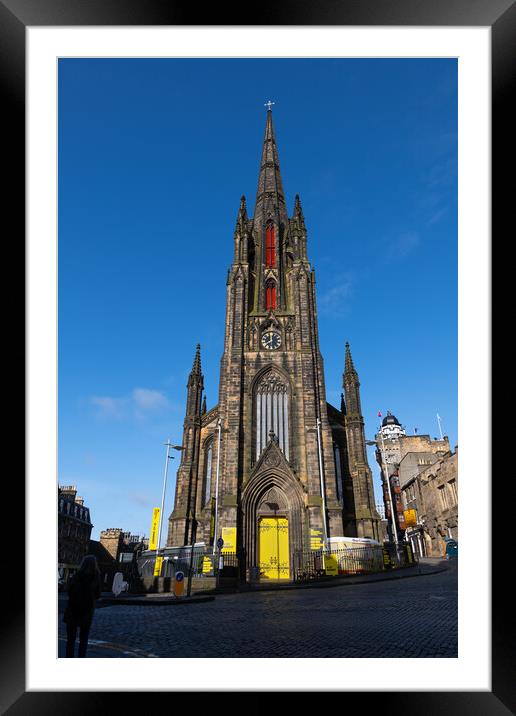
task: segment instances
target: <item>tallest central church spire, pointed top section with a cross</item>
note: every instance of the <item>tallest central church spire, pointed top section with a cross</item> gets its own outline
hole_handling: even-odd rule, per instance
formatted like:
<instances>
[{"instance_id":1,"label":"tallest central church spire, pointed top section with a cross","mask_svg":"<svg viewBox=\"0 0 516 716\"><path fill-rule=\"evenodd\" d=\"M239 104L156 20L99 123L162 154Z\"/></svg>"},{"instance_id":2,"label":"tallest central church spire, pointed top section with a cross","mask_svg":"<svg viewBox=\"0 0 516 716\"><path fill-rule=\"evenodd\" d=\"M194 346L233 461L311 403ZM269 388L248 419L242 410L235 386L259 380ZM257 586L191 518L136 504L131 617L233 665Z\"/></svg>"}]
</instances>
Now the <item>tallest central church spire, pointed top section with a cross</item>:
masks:
<instances>
[{"instance_id":1,"label":"tallest central church spire, pointed top section with a cross","mask_svg":"<svg viewBox=\"0 0 516 716\"><path fill-rule=\"evenodd\" d=\"M254 209L255 225L259 220L262 222L265 221L269 214L274 215L277 210L282 214L281 218L285 219L285 194L283 192L278 148L276 146L276 137L272 124L272 110L269 106L265 123L258 188L256 190L256 205Z\"/></svg>"}]
</instances>

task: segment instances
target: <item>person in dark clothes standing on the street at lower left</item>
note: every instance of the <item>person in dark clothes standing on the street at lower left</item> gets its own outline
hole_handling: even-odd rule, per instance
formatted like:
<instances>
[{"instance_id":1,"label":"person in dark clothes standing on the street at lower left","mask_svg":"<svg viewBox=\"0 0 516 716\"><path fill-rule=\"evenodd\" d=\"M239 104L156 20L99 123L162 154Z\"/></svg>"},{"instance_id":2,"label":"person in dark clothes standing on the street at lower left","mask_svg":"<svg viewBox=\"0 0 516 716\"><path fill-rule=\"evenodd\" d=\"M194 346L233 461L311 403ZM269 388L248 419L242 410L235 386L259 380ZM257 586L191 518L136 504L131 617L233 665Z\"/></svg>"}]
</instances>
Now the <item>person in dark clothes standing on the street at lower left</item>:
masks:
<instances>
[{"instance_id":1,"label":"person in dark clothes standing on the street at lower left","mask_svg":"<svg viewBox=\"0 0 516 716\"><path fill-rule=\"evenodd\" d=\"M73 657L79 629L79 656L86 656L95 602L100 597L100 573L94 555L87 554L68 585L68 604L64 613L66 656Z\"/></svg>"}]
</instances>

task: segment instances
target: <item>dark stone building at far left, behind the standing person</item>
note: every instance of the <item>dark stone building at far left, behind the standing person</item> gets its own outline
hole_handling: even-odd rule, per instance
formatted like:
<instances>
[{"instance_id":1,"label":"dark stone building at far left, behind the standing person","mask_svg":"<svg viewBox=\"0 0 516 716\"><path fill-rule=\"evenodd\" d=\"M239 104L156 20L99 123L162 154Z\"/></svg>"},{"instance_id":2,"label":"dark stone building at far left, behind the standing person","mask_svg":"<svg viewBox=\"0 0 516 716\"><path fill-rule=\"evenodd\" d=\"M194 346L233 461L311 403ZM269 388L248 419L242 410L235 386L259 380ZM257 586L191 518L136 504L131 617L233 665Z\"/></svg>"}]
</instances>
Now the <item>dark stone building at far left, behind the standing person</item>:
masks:
<instances>
[{"instance_id":1,"label":"dark stone building at far left, behind the standing person","mask_svg":"<svg viewBox=\"0 0 516 716\"><path fill-rule=\"evenodd\" d=\"M59 582L65 584L79 569L82 558L88 554L88 543L93 525L90 510L75 485L59 486L57 494L57 569Z\"/></svg>"}]
</instances>

